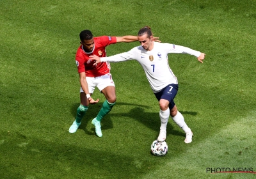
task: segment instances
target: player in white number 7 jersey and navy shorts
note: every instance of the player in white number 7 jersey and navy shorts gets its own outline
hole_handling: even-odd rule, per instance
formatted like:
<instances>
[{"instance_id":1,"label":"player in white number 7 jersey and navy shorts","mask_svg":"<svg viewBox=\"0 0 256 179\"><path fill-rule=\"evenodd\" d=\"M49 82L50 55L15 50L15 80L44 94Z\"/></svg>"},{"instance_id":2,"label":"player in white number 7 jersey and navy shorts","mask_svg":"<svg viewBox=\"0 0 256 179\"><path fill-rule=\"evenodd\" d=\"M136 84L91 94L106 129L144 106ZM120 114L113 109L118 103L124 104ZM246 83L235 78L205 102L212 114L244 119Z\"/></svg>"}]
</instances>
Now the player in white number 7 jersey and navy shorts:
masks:
<instances>
[{"instance_id":1,"label":"player in white number 7 jersey and navy shorts","mask_svg":"<svg viewBox=\"0 0 256 179\"><path fill-rule=\"evenodd\" d=\"M141 45L134 47L131 51L104 58L98 56L90 56L90 58L95 60L95 65L105 61L118 62L130 59L138 61L145 71L148 82L159 101L161 127L157 140L162 142L166 139L166 126L169 116L171 116L173 121L186 133L184 142L191 143L193 132L174 103L179 86L177 77L175 77L169 66L168 54L191 54L196 56L201 63L203 63L205 54L180 45L154 42L152 31L148 26L140 29L138 40Z\"/></svg>"}]
</instances>

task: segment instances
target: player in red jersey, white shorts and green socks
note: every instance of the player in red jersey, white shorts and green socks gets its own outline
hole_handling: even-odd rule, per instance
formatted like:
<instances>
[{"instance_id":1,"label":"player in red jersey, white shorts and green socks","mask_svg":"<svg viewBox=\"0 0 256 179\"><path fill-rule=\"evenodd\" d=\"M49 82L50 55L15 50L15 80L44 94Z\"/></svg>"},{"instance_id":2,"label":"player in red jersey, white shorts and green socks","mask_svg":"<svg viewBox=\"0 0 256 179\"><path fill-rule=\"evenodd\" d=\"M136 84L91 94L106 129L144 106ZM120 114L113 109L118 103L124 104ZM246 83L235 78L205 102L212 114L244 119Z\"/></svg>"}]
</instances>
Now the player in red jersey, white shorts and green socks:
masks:
<instances>
[{"instance_id":1,"label":"player in red jersey, white shorts and green socks","mask_svg":"<svg viewBox=\"0 0 256 179\"><path fill-rule=\"evenodd\" d=\"M95 87L104 94L106 100L102 104L102 108L97 114L96 118L92 120L95 126L95 133L102 137L100 121L106 114L108 114L116 102L115 83L110 74L110 65L108 62L93 65L89 56L96 55L99 57L106 57L106 47L108 45L118 42L134 42L138 41L138 36L99 36L93 37L89 30L81 31L80 33L81 45L76 53L76 65L80 78L80 100L81 104L77 108L76 120L69 128L70 133L77 131L84 114L88 110L89 104L99 102L99 99L93 100L91 97ZM156 39L156 38L154 38ZM158 41L158 40L157 40Z\"/></svg>"}]
</instances>

